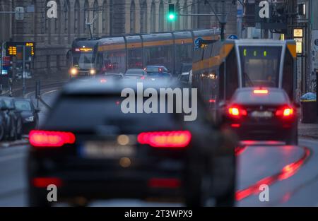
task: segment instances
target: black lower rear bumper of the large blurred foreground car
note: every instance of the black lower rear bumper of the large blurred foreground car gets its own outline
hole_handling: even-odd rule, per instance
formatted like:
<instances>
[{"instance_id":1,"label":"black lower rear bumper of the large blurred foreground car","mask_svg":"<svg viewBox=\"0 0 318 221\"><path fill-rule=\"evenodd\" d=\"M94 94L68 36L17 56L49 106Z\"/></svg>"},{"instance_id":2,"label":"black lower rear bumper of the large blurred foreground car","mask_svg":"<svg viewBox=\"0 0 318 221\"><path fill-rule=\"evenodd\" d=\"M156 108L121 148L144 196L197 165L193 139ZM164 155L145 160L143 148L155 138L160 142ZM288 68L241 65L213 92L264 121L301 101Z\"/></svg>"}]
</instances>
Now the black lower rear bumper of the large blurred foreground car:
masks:
<instances>
[{"instance_id":1,"label":"black lower rear bumper of the large blurred foreground car","mask_svg":"<svg viewBox=\"0 0 318 221\"><path fill-rule=\"evenodd\" d=\"M39 176L41 177L41 176ZM83 197L92 199L108 198L181 198L184 193L181 173L171 172L63 172L46 174L45 177L61 179L58 197L61 201ZM151 179L170 179L179 181L179 186L151 187ZM35 187L30 177L30 194L47 196L46 187Z\"/></svg>"}]
</instances>

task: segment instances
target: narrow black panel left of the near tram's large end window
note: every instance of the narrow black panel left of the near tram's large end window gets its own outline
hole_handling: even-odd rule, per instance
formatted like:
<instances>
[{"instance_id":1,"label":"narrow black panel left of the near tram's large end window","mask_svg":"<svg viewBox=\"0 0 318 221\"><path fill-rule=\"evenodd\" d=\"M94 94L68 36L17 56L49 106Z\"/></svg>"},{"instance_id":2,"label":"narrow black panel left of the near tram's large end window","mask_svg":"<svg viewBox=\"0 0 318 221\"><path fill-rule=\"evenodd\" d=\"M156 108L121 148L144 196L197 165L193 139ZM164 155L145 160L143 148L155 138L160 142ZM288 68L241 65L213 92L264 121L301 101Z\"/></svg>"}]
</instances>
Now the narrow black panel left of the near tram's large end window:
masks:
<instances>
[{"instance_id":1,"label":"narrow black panel left of the near tram's large end window","mask_svg":"<svg viewBox=\"0 0 318 221\"><path fill-rule=\"evenodd\" d=\"M235 90L238 88L237 59L234 49L232 49L232 52L230 52L226 59L225 71L225 98L226 100L230 100Z\"/></svg>"}]
</instances>

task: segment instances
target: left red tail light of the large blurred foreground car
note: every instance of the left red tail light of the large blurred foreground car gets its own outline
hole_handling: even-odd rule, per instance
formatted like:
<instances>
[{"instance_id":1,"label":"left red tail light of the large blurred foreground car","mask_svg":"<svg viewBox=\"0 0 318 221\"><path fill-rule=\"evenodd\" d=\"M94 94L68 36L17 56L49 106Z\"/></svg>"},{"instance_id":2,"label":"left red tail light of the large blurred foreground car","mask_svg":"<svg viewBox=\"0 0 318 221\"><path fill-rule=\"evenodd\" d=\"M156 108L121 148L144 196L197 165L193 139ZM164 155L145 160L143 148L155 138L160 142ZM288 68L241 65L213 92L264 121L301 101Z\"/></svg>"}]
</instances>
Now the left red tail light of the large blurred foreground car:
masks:
<instances>
[{"instance_id":1,"label":"left red tail light of the large blurred foreground car","mask_svg":"<svg viewBox=\"0 0 318 221\"><path fill-rule=\"evenodd\" d=\"M30 131L29 142L35 147L61 147L66 143L75 143L75 135L61 131Z\"/></svg>"}]
</instances>

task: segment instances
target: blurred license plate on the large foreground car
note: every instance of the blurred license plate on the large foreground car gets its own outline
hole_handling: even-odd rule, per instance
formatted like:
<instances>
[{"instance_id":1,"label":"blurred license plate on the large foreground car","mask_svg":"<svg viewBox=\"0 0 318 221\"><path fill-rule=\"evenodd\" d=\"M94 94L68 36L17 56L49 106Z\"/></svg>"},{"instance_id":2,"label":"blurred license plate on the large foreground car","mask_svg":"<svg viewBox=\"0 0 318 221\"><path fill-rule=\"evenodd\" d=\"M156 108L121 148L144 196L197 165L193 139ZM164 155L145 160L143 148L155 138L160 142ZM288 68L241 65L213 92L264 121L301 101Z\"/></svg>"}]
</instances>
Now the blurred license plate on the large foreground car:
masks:
<instances>
[{"instance_id":1,"label":"blurred license plate on the large foreground car","mask_svg":"<svg viewBox=\"0 0 318 221\"><path fill-rule=\"evenodd\" d=\"M88 141L81 146L81 155L88 158L117 159L135 155L135 148L131 145L118 143Z\"/></svg>"}]
</instances>

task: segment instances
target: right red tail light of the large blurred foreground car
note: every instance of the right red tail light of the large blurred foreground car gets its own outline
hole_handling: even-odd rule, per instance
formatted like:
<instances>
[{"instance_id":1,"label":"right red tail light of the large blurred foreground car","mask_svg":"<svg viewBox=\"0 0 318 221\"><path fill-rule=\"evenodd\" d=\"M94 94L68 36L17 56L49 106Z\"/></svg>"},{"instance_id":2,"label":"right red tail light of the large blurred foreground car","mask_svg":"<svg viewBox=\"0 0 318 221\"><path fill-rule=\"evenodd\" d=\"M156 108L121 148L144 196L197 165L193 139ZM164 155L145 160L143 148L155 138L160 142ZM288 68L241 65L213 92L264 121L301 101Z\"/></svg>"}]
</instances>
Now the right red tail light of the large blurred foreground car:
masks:
<instances>
[{"instance_id":1,"label":"right red tail light of the large blurred foreground car","mask_svg":"<svg viewBox=\"0 0 318 221\"><path fill-rule=\"evenodd\" d=\"M138 142L155 148L184 148L191 141L189 131L163 131L139 133Z\"/></svg>"}]
</instances>

